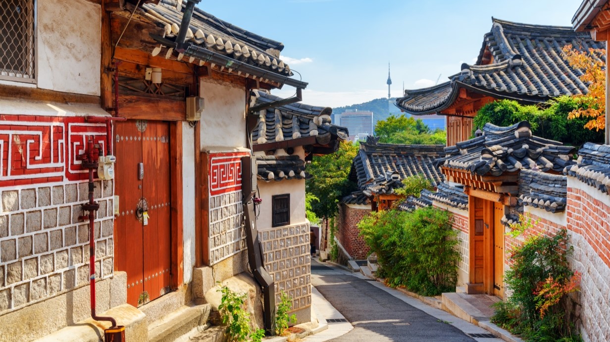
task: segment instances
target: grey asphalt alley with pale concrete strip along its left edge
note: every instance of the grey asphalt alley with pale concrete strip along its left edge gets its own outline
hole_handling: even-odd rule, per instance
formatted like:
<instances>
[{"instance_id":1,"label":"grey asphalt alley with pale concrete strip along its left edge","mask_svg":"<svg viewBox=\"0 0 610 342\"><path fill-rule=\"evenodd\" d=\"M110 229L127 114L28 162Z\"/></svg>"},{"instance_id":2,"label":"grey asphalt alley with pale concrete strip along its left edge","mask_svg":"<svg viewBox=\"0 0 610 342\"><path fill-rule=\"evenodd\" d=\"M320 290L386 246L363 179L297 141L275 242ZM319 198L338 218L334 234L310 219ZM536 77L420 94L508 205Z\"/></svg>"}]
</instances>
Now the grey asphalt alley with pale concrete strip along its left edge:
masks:
<instances>
[{"instance_id":1,"label":"grey asphalt alley with pale concrete strip along its left edge","mask_svg":"<svg viewBox=\"0 0 610 342\"><path fill-rule=\"evenodd\" d=\"M362 274L327 267L316 260L312 260L312 284L316 287L312 291L314 311L321 322L326 320L328 329L305 338L307 342L502 341ZM344 318L348 322L332 321Z\"/></svg>"}]
</instances>

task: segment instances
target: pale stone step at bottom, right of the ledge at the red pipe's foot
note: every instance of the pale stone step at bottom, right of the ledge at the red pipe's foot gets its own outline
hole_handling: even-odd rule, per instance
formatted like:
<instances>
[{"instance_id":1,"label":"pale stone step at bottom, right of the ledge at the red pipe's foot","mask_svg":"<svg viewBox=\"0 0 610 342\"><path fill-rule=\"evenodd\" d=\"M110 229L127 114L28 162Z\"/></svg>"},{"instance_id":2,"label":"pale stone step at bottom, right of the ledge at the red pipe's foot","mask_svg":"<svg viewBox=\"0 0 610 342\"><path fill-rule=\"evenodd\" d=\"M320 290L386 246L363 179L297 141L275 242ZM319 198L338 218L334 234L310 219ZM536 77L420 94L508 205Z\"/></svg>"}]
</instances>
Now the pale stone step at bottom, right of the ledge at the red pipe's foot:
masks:
<instances>
[{"instance_id":1,"label":"pale stone step at bottom, right of the ledge at the red pipe's foot","mask_svg":"<svg viewBox=\"0 0 610 342\"><path fill-rule=\"evenodd\" d=\"M190 335L193 329L203 330L210 318L210 304L189 304L179 307L169 315L149 326L148 341L176 341L183 335Z\"/></svg>"}]
</instances>

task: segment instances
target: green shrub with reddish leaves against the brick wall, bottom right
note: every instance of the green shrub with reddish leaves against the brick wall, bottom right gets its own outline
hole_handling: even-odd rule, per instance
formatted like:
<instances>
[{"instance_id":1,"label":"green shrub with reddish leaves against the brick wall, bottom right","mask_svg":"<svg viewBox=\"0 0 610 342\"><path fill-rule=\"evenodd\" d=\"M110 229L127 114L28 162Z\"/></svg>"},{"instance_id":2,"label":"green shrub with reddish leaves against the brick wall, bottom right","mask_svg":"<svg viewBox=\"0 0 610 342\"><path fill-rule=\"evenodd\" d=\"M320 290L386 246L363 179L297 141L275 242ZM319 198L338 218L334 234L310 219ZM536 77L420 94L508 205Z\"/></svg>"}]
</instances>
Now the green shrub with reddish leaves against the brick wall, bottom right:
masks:
<instances>
[{"instance_id":1,"label":"green shrub with reddish leaves against the brick wall, bottom right","mask_svg":"<svg viewBox=\"0 0 610 342\"><path fill-rule=\"evenodd\" d=\"M504 282L512 294L495 306L492 322L526 341L579 341L567 310L568 294L578 291L580 282L567 262L572 252L567 231L548 236L534 233L533 226L529 217L511 226L525 242L510 253L512 266Z\"/></svg>"}]
</instances>

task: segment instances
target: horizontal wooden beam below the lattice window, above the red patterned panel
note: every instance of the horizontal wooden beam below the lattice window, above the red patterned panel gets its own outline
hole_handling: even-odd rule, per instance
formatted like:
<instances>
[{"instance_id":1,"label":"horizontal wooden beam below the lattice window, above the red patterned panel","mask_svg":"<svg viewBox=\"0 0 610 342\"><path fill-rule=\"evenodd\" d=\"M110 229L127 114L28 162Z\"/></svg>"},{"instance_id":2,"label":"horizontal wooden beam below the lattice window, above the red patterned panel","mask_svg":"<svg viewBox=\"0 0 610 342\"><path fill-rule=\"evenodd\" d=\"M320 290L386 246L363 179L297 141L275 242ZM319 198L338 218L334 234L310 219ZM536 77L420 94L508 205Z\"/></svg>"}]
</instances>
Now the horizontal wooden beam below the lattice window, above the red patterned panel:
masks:
<instances>
[{"instance_id":1,"label":"horizontal wooden beam below the lattice window, above the red patterned panel","mask_svg":"<svg viewBox=\"0 0 610 342\"><path fill-rule=\"evenodd\" d=\"M4 100L27 99L52 103L87 103L98 104L99 96L56 92L40 88L17 87L0 84L0 98Z\"/></svg>"}]
</instances>

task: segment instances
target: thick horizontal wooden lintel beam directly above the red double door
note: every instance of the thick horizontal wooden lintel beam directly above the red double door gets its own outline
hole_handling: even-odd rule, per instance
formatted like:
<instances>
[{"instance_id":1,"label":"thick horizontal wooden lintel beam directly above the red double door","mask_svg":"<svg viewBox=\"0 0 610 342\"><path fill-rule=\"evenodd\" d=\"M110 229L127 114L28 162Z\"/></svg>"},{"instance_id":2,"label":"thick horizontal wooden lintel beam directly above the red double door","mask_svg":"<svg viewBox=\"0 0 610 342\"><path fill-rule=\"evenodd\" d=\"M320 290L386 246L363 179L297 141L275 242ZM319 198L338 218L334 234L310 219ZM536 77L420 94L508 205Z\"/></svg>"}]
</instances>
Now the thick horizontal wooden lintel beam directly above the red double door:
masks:
<instances>
[{"instance_id":1,"label":"thick horizontal wooden lintel beam directly above the red double door","mask_svg":"<svg viewBox=\"0 0 610 342\"><path fill-rule=\"evenodd\" d=\"M160 100L135 95L119 95L121 117L140 120L185 121L185 101Z\"/></svg>"}]
</instances>

